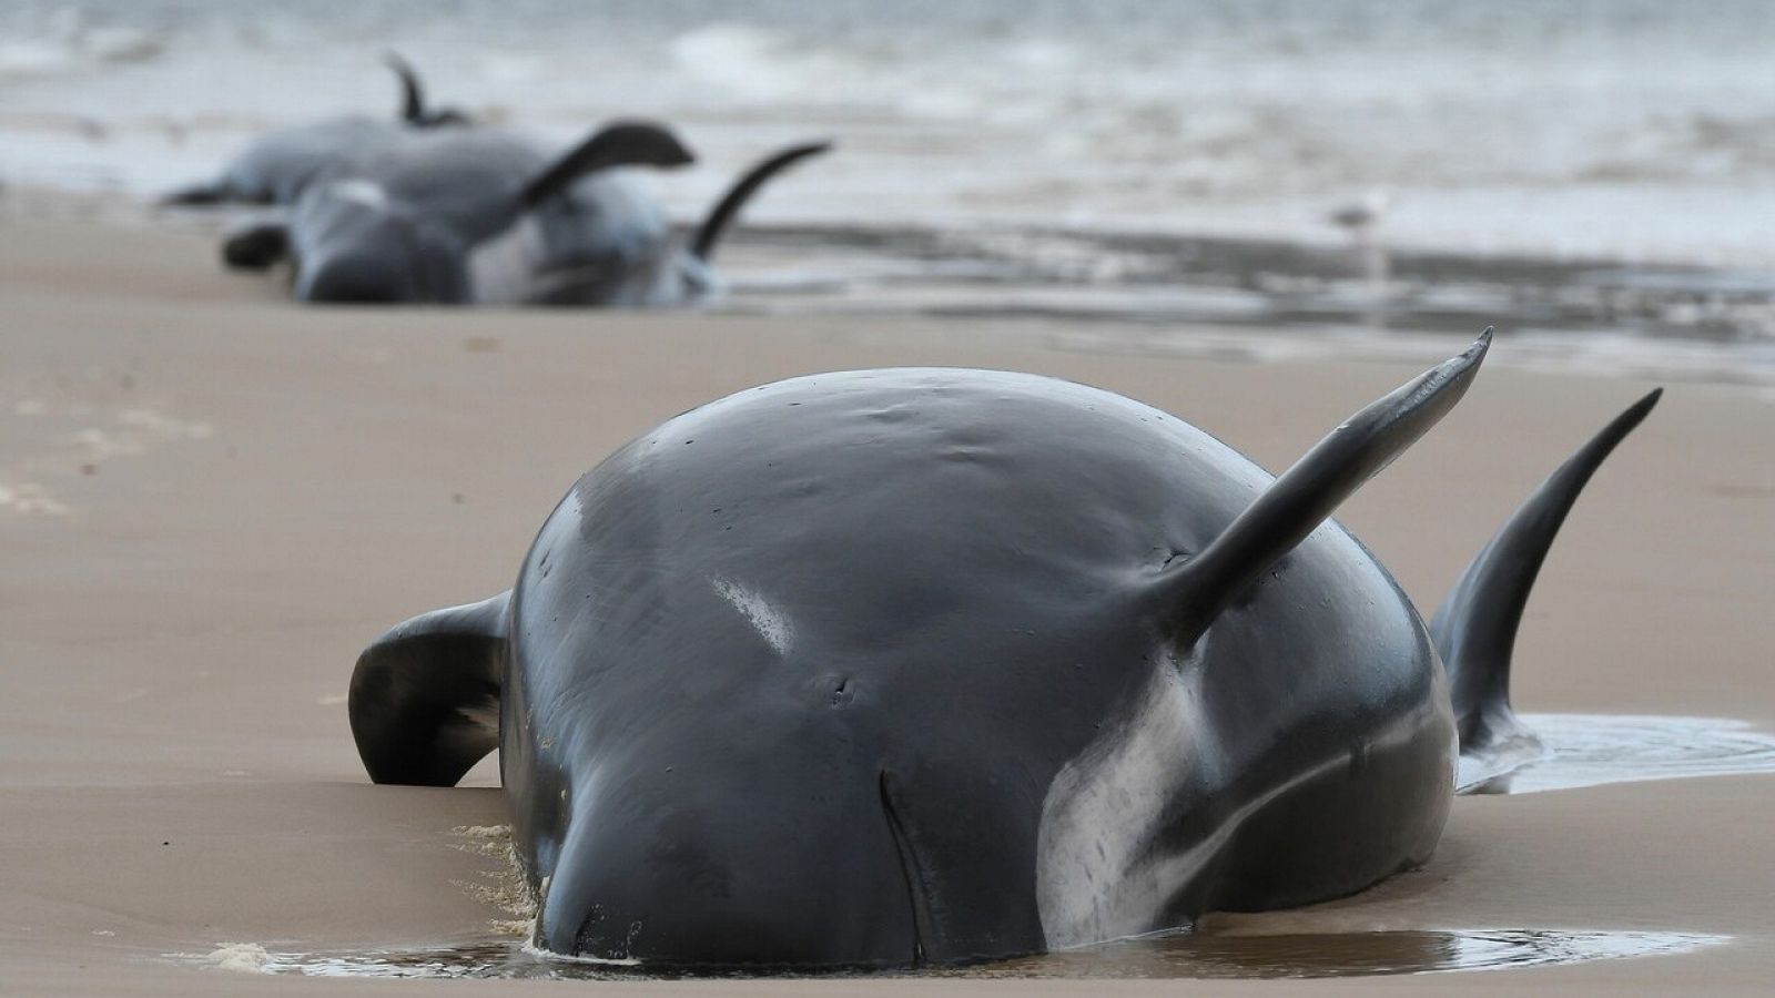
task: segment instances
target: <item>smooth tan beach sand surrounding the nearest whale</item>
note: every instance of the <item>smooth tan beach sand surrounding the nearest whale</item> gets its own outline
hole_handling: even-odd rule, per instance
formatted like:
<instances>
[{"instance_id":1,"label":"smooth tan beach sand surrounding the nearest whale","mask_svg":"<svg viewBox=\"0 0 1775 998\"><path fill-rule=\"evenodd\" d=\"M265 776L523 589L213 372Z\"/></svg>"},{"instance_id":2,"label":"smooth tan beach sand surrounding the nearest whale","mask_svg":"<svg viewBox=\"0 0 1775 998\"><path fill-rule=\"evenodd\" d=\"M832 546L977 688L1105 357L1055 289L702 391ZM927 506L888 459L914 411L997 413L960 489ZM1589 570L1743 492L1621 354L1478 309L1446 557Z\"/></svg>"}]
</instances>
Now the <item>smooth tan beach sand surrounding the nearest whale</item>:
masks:
<instances>
[{"instance_id":1,"label":"smooth tan beach sand surrounding the nearest whale","mask_svg":"<svg viewBox=\"0 0 1775 998\"><path fill-rule=\"evenodd\" d=\"M213 252L190 233L0 224L7 994L611 987L243 975L162 954L449 943L504 918L462 886L497 863L451 831L502 820L488 767L481 788L371 787L346 677L387 625L506 588L573 478L671 414L818 369L1014 368L1154 403L1276 469L1413 373L1058 352L1042 327L992 323L302 309L220 273ZM1495 355L1509 350L1505 334ZM1429 609L1518 499L1645 387L1493 366L1342 519ZM1674 385L1542 572L1518 703L1775 726L1771 513L1775 400ZM1775 781L1750 776L1461 799L1425 870L1248 929L1734 939L1567 968L1212 989L1757 989L1775 978L1770 828ZM678 989L785 986L655 986Z\"/></svg>"}]
</instances>

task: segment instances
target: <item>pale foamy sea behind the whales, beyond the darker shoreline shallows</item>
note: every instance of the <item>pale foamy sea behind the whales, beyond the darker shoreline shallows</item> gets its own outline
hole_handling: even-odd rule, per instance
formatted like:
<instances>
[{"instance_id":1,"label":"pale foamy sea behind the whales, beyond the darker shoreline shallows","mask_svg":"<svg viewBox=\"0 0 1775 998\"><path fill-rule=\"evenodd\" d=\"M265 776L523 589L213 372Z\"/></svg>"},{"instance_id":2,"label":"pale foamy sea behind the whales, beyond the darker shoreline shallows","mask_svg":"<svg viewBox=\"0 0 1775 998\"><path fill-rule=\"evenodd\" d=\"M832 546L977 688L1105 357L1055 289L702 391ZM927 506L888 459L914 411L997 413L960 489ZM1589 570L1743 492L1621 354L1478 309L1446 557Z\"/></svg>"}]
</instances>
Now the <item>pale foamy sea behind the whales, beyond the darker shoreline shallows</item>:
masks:
<instances>
[{"instance_id":1,"label":"pale foamy sea behind the whales, beyond the darker shoreline shallows","mask_svg":"<svg viewBox=\"0 0 1775 998\"><path fill-rule=\"evenodd\" d=\"M1384 201L1411 245L1775 261L1775 9L1761 0L12 0L0 174L158 192L245 137L437 103L566 140L683 128L706 206L829 133L760 213L1326 240Z\"/></svg>"}]
</instances>

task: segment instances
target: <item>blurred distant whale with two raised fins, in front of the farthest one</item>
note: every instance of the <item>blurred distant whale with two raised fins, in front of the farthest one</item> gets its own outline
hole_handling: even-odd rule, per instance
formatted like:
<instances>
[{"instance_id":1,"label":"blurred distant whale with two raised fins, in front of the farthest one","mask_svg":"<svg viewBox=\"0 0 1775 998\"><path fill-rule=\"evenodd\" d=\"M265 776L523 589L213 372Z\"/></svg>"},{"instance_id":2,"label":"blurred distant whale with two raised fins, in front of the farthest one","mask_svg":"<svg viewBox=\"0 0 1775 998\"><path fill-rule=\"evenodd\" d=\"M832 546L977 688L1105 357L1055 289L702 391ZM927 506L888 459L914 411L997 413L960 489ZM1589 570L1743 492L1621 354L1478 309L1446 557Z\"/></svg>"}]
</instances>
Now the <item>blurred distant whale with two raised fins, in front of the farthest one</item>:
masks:
<instances>
[{"instance_id":1,"label":"blurred distant whale with two raised fins, in front of the farthest one","mask_svg":"<svg viewBox=\"0 0 1775 998\"><path fill-rule=\"evenodd\" d=\"M238 229L222 256L264 268L288 254L304 302L685 304L714 288L708 261L746 201L829 147L758 163L680 245L641 186L609 169L673 167L690 153L659 126L637 128L607 128L552 163L506 131L414 137L311 183L288 218Z\"/></svg>"}]
</instances>

